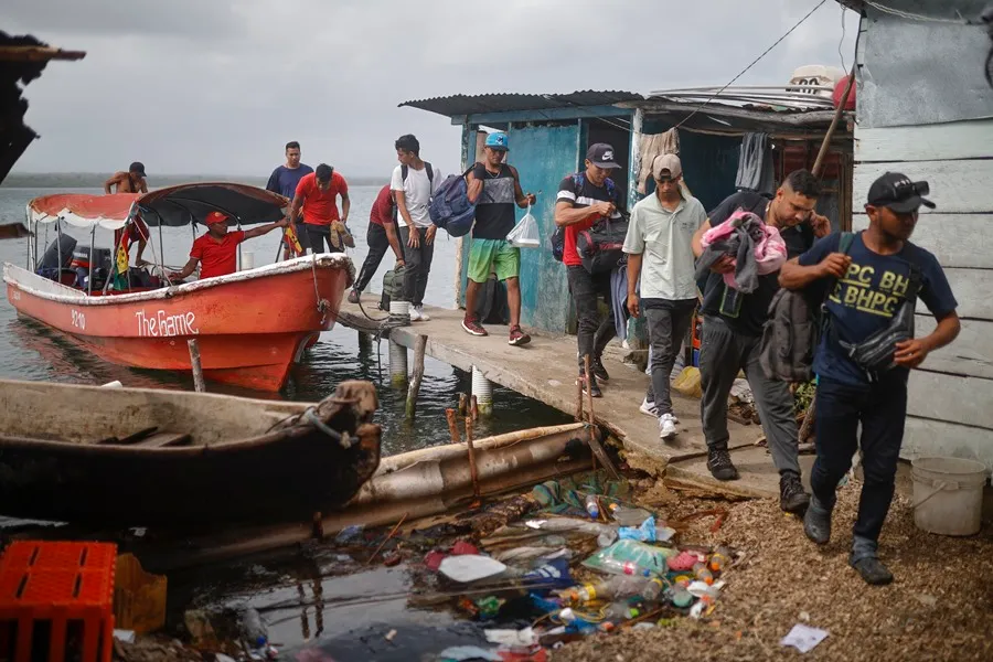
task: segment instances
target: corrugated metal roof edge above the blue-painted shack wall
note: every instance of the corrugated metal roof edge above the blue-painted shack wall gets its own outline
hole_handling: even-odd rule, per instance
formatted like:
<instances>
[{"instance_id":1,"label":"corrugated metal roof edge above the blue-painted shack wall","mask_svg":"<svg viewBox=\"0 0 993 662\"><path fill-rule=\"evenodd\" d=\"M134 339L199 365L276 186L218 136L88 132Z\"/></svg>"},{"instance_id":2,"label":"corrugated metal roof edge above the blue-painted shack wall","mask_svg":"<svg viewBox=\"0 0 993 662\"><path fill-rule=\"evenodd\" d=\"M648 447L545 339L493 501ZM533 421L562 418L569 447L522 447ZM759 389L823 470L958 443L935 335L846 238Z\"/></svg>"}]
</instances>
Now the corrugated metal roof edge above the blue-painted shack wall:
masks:
<instances>
[{"instance_id":1,"label":"corrugated metal roof edge above the blue-painted shack wall","mask_svg":"<svg viewBox=\"0 0 993 662\"><path fill-rule=\"evenodd\" d=\"M480 113L505 113L513 110L547 110L551 108L573 108L576 106L610 106L621 102L642 100L633 92L587 89L572 94L457 94L447 97L404 102L399 107L409 106L429 113L446 115L478 115Z\"/></svg>"}]
</instances>

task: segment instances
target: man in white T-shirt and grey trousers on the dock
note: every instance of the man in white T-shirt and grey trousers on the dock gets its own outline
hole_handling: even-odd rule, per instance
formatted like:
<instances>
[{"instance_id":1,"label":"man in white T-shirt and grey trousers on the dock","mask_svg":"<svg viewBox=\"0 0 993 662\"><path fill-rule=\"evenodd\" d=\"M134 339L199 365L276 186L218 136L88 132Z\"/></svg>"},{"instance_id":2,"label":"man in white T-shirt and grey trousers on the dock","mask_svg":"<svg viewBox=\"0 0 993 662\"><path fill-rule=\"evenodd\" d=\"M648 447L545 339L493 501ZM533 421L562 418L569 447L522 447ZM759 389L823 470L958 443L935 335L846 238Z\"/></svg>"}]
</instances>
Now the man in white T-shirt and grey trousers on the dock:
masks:
<instances>
[{"instance_id":1,"label":"man in white T-shirt and grey trousers on the dock","mask_svg":"<svg viewBox=\"0 0 993 662\"><path fill-rule=\"evenodd\" d=\"M396 196L401 244L406 263L404 300L412 306L410 321L427 321L430 318L424 312L424 292L435 257L435 233L438 229L431 223L428 205L445 178L420 159L420 142L414 136L401 136L395 147L396 160L401 164L393 171L389 189Z\"/></svg>"}]
</instances>

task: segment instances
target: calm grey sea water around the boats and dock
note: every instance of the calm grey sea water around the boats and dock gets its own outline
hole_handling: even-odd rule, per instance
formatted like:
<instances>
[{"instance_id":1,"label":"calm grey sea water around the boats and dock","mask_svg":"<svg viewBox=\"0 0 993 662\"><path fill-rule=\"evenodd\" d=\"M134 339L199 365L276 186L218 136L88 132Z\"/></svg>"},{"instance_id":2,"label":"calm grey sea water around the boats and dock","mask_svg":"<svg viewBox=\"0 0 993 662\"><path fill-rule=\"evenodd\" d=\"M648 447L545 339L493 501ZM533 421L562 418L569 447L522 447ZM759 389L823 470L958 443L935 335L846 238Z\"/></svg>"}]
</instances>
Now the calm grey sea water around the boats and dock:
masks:
<instances>
[{"instance_id":1,"label":"calm grey sea water around the boats and dock","mask_svg":"<svg viewBox=\"0 0 993 662\"><path fill-rule=\"evenodd\" d=\"M67 180L66 183L72 182ZM47 183L47 182L46 182ZM72 182L75 183L75 182ZM154 183L154 182L153 182ZM258 185L259 182L250 181ZM24 218L26 203L39 195L52 193L100 193L90 188L13 188L0 186L0 222L10 223ZM356 247L350 252L356 270L365 258L365 233L369 212L380 186L356 185L351 188L352 210L349 226L356 238ZM81 246L89 245L88 232L68 228ZM444 235L444 236L442 236ZM39 250L45 242L45 229L39 234ZM49 229L47 241L55 238ZM166 264L180 266L185 263L190 244L193 242L190 227L162 228L162 246ZM435 249L435 261L426 302L450 307L453 301L455 242L445 233L439 233ZM97 229L96 246L109 247L113 233ZM152 228L152 245L159 254L159 234ZM271 263L279 245L279 233L270 233L246 243L245 250L254 253L256 266ZM149 249L146 258L149 259ZM26 263L26 239L0 242L0 260L18 265ZM387 257L374 280L380 289L382 275L393 264ZM377 423L384 428L383 446L385 455L393 455L414 448L448 442L448 426L445 409L456 406L459 393L469 391L467 373L428 359L418 401L418 416L412 421L404 418L405 392L389 385L387 370L387 345L373 345L371 352L359 350L356 332L337 327L323 333L320 342L310 350L305 363L295 367L291 382L279 395L239 392L207 383L207 389L252 397L280 397L292 401L318 401L330 395L337 384L345 380L369 380L378 386L381 409ZM145 371L113 365L102 361L85 349L77 346L70 337L26 319L19 319L4 296L0 302L0 377L31 381L55 381L77 384L104 384L120 380L126 386L153 388L193 389L192 377L178 373ZM559 412L516 393L498 388L494 392L494 415L481 421L477 436L501 434L510 430L549 425L567 420Z\"/></svg>"}]
</instances>

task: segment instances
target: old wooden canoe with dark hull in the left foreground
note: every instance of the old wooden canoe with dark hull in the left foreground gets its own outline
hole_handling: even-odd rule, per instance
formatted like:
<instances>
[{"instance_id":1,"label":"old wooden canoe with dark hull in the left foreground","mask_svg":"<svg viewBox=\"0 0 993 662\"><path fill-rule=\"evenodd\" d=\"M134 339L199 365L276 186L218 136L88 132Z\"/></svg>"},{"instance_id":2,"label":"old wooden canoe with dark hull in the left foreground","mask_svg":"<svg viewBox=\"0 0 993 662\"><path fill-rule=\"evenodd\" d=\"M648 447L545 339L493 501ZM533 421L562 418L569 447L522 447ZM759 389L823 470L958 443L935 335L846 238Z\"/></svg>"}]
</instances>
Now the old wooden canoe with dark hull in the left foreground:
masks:
<instances>
[{"instance_id":1,"label":"old wooden canoe with dark hull in the left foreground","mask_svg":"<svg viewBox=\"0 0 993 662\"><path fill-rule=\"evenodd\" d=\"M0 515L192 528L309 522L380 465L375 387L320 404L0 381Z\"/></svg>"}]
</instances>

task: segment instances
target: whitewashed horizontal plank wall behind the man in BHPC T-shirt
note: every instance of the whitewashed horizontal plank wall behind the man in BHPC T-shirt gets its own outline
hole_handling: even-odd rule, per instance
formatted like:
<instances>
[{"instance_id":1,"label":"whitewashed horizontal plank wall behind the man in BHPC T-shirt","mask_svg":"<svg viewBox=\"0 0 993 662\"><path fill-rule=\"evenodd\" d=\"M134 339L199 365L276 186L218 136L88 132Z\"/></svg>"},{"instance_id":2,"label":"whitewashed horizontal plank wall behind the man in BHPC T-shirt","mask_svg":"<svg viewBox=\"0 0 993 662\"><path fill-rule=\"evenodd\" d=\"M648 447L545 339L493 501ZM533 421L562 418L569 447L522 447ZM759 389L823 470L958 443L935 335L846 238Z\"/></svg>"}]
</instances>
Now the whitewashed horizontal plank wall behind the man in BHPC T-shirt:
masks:
<instances>
[{"instance_id":1,"label":"whitewashed horizontal plank wall behind the man in BHPC T-shirt","mask_svg":"<svg viewBox=\"0 0 993 662\"><path fill-rule=\"evenodd\" d=\"M927 180L912 241L933 253L959 301L962 333L910 376L903 455L951 455L993 468L993 120L855 129L853 226L864 229L872 182L886 171ZM918 335L935 328L918 305Z\"/></svg>"}]
</instances>

